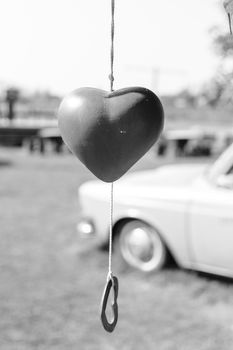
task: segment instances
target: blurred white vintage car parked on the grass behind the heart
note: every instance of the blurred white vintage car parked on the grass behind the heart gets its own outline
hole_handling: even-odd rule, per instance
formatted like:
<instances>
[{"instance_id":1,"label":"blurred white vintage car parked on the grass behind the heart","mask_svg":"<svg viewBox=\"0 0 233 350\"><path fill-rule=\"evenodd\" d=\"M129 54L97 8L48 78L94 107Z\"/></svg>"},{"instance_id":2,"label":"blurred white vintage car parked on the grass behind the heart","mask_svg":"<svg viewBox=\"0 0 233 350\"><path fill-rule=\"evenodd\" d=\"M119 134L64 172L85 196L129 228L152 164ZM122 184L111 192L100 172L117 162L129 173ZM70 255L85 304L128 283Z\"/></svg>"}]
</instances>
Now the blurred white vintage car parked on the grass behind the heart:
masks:
<instances>
[{"instance_id":1,"label":"blurred white vintage car parked on the grass behind the heart","mask_svg":"<svg viewBox=\"0 0 233 350\"><path fill-rule=\"evenodd\" d=\"M108 242L110 184L79 189L78 231ZM233 277L233 145L212 165L166 165L114 183L113 234L122 259L141 271L171 255L183 268Z\"/></svg>"}]
</instances>

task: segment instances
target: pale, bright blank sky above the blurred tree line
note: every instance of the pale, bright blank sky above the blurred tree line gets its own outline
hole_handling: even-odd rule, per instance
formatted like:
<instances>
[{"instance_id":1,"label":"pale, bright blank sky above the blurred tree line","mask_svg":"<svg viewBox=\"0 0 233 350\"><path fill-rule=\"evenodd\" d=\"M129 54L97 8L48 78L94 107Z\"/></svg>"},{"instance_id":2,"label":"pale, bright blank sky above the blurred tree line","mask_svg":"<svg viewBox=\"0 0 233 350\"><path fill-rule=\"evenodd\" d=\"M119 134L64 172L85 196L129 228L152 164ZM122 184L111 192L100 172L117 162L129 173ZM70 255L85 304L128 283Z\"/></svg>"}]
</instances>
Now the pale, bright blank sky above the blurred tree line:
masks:
<instances>
[{"instance_id":1,"label":"pale, bright blank sky above the blurred tree line","mask_svg":"<svg viewBox=\"0 0 233 350\"><path fill-rule=\"evenodd\" d=\"M0 88L109 90L110 0L0 0ZM219 62L221 0L115 0L114 88L195 90Z\"/></svg>"}]
</instances>

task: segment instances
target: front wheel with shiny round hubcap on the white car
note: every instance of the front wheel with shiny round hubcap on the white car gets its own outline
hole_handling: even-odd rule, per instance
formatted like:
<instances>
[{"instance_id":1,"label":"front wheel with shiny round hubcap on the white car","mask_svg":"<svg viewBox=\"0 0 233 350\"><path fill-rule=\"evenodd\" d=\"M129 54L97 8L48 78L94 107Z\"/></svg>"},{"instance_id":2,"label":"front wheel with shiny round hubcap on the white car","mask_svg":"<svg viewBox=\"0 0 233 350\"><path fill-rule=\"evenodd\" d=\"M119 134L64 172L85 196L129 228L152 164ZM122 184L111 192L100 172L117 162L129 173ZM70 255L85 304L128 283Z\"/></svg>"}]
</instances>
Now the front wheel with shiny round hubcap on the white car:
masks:
<instances>
[{"instance_id":1,"label":"front wheel with shiny round hubcap on the white car","mask_svg":"<svg viewBox=\"0 0 233 350\"><path fill-rule=\"evenodd\" d=\"M128 266L144 272L160 270L168 255L158 232L139 220L129 221L121 228L117 251Z\"/></svg>"}]
</instances>

